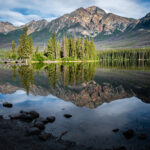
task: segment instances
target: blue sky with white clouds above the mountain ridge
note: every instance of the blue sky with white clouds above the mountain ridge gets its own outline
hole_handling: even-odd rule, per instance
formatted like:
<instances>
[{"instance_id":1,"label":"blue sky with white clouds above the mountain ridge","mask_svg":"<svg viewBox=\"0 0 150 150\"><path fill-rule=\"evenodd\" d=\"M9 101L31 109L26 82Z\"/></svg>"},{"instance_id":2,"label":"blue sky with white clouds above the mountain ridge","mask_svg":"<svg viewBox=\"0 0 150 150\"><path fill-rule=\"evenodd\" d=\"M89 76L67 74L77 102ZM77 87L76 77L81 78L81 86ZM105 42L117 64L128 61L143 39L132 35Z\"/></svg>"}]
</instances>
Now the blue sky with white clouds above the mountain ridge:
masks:
<instances>
[{"instance_id":1,"label":"blue sky with white clouds above the mountain ridge","mask_svg":"<svg viewBox=\"0 0 150 150\"><path fill-rule=\"evenodd\" d=\"M32 20L51 21L77 8L89 6L135 19L150 12L150 0L0 0L0 21L15 26Z\"/></svg>"}]
</instances>

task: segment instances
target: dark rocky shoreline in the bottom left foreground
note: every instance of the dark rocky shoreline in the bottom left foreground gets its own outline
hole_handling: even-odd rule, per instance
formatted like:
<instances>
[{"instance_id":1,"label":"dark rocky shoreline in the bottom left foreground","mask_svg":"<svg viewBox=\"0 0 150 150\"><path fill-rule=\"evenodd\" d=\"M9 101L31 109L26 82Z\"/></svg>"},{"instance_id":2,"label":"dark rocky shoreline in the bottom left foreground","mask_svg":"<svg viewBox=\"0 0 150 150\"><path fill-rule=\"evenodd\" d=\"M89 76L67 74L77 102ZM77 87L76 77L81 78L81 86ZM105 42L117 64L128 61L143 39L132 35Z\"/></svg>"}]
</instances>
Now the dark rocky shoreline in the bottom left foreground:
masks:
<instances>
[{"instance_id":1,"label":"dark rocky shoreline in the bottom left foreground","mask_svg":"<svg viewBox=\"0 0 150 150\"><path fill-rule=\"evenodd\" d=\"M38 113L34 111L20 111L18 114L11 115L10 118L10 120L6 120L0 116L1 150L87 149L84 146L76 145L72 141L62 140L66 133L62 133L59 137L54 137L52 134L44 132L44 123L54 122L54 117L48 117L44 120L39 118Z\"/></svg>"}]
</instances>

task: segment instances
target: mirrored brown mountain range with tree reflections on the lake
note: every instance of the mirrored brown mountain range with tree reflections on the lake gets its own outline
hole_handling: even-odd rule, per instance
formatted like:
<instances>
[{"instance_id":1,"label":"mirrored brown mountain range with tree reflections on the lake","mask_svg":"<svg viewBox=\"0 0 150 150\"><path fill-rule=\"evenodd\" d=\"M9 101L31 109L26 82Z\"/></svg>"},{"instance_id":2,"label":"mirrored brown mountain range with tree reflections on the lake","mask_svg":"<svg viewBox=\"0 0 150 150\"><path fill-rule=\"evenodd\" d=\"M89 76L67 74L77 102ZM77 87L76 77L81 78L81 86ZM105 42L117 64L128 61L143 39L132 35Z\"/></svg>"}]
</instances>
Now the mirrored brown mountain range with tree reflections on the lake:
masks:
<instances>
[{"instance_id":1,"label":"mirrored brown mountain range with tree reflections on the lake","mask_svg":"<svg viewBox=\"0 0 150 150\"><path fill-rule=\"evenodd\" d=\"M0 70L0 93L26 89L27 93L52 94L89 108L132 96L150 102L150 77L147 72L96 69L94 64L53 64L44 67L41 72L39 70L31 66L13 68L13 71Z\"/></svg>"}]
</instances>

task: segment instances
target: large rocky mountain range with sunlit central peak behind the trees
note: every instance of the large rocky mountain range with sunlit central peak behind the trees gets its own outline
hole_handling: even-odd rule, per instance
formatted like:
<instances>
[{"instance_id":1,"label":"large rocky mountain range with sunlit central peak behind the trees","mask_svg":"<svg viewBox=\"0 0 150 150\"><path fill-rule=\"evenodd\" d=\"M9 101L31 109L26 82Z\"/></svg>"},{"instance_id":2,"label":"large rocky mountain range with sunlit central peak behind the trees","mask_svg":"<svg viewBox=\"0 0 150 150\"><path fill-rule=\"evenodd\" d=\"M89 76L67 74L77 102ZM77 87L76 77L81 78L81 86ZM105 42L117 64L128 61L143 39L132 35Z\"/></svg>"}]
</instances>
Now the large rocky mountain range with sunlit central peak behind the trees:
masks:
<instances>
[{"instance_id":1,"label":"large rocky mountain range with sunlit central peak behind the trees","mask_svg":"<svg viewBox=\"0 0 150 150\"><path fill-rule=\"evenodd\" d=\"M148 41L150 13L136 20L106 13L104 10L92 6L86 9L79 8L50 22L46 20L31 21L24 26L7 30L7 32L2 30L0 24L0 47L9 47L12 39L17 42L25 26L28 27L28 34L32 35L34 42L40 46L47 43L53 32L60 40L63 34L75 37L92 37L96 41L97 49L150 45ZM142 37L144 37L143 40Z\"/></svg>"}]
</instances>

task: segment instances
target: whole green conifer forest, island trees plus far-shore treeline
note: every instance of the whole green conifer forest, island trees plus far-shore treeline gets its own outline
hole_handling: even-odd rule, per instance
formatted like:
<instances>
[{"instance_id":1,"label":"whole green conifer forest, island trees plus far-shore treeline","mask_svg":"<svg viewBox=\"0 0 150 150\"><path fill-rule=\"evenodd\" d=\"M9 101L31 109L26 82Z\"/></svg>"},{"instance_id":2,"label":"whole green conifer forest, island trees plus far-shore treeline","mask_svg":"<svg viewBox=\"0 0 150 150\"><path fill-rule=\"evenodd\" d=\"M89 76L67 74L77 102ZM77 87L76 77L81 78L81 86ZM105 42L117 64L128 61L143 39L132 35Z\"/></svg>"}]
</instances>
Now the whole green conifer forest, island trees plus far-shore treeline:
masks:
<instances>
[{"instance_id":1,"label":"whole green conifer forest, island trees plus far-shore treeline","mask_svg":"<svg viewBox=\"0 0 150 150\"><path fill-rule=\"evenodd\" d=\"M29 59L33 62L44 61L128 61L150 60L150 48L133 48L119 50L97 50L93 39L74 38L63 36L59 41L55 33L48 40L47 46L41 50L38 45L34 47L32 36L27 35L27 27L20 36L19 43L11 43L10 51L0 51L0 59ZM17 46L16 46L17 45Z\"/></svg>"}]
</instances>

